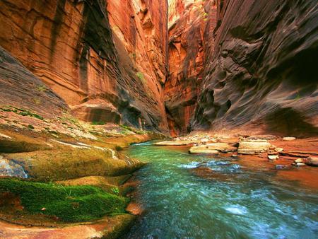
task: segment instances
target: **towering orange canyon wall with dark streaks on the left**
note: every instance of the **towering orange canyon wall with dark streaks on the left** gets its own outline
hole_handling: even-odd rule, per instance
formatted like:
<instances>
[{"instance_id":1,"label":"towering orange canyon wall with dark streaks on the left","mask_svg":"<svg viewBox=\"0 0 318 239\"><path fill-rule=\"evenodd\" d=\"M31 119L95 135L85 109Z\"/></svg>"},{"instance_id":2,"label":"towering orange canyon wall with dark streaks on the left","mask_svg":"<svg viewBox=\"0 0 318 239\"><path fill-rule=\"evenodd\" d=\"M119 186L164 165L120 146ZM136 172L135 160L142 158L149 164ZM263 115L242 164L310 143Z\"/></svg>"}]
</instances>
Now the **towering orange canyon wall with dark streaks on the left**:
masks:
<instances>
[{"instance_id":1,"label":"towering orange canyon wall with dark streaks on the left","mask_svg":"<svg viewBox=\"0 0 318 239\"><path fill-rule=\"evenodd\" d=\"M0 25L0 45L78 118L167 129L166 1L4 0Z\"/></svg>"}]
</instances>

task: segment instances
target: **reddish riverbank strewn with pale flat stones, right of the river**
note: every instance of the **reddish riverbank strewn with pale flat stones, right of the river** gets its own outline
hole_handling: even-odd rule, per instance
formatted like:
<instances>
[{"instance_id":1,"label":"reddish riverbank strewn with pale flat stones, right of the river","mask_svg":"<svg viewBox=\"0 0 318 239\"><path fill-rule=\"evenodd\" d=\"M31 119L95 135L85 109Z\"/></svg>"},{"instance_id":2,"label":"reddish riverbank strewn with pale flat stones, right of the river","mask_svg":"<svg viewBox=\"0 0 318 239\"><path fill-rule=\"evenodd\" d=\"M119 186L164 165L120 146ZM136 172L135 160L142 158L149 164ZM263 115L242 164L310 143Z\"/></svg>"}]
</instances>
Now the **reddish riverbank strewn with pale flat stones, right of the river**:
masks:
<instances>
[{"instance_id":1,"label":"reddish riverbank strewn with pale flat stones, right of the river","mask_svg":"<svg viewBox=\"0 0 318 239\"><path fill-rule=\"evenodd\" d=\"M298 139L273 135L193 133L170 141L159 141L157 146L183 146L190 154L214 158L232 158L250 170L273 170L282 180L295 180L306 187L318 189L318 139ZM192 169L208 179L219 177L204 163ZM223 175L222 175L223 176Z\"/></svg>"}]
</instances>

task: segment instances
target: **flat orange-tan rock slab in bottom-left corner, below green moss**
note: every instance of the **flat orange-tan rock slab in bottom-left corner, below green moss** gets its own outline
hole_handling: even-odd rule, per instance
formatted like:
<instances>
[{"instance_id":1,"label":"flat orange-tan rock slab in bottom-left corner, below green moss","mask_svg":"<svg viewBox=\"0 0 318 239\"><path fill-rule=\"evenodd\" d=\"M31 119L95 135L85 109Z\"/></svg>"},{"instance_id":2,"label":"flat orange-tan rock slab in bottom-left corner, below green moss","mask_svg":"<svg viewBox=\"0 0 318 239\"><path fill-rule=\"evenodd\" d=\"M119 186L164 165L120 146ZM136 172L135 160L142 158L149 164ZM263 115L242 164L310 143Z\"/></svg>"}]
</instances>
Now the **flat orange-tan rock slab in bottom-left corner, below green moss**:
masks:
<instances>
[{"instance_id":1,"label":"flat orange-tan rock slab in bottom-left corner, below green moss","mask_svg":"<svg viewBox=\"0 0 318 239\"><path fill-rule=\"evenodd\" d=\"M86 239L117 238L133 223L135 216L125 214L103 218L95 223L77 224L59 228L26 227L0 221L1 238L14 239Z\"/></svg>"}]
</instances>

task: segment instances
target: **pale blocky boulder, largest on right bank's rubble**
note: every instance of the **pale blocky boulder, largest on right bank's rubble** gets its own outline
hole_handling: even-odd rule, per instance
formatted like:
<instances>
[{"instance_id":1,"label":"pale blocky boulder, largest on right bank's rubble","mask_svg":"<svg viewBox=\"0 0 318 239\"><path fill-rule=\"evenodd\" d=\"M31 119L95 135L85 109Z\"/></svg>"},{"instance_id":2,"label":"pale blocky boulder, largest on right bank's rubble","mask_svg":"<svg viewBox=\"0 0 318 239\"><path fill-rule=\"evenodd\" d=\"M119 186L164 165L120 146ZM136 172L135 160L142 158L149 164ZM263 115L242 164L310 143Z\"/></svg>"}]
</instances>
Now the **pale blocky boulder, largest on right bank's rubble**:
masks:
<instances>
[{"instance_id":1,"label":"pale blocky boulder, largest on right bank's rubble","mask_svg":"<svg viewBox=\"0 0 318 239\"><path fill-rule=\"evenodd\" d=\"M266 140L240 141L237 153L253 155L269 151L273 146Z\"/></svg>"}]
</instances>

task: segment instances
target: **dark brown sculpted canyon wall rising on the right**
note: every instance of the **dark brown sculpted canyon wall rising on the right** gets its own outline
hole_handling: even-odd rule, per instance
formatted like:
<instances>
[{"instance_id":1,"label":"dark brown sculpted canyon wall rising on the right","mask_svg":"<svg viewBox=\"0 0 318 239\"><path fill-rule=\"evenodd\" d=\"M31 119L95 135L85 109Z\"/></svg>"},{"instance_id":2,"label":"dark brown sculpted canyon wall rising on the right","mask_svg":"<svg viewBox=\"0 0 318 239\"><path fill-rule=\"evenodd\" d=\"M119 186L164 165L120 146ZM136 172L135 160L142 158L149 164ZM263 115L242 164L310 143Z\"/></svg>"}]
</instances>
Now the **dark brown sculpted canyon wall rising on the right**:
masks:
<instances>
[{"instance_id":1,"label":"dark brown sculpted canyon wall rising on the right","mask_svg":"<svg viewBox=\"0 0 318 239\"><path fill-rule=\"evenodd\" d=\"M192 129L317 135L317 1L217 7Z\"/></svg>"}]
</instances>

